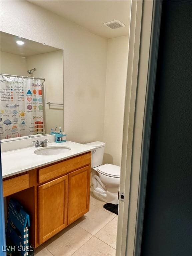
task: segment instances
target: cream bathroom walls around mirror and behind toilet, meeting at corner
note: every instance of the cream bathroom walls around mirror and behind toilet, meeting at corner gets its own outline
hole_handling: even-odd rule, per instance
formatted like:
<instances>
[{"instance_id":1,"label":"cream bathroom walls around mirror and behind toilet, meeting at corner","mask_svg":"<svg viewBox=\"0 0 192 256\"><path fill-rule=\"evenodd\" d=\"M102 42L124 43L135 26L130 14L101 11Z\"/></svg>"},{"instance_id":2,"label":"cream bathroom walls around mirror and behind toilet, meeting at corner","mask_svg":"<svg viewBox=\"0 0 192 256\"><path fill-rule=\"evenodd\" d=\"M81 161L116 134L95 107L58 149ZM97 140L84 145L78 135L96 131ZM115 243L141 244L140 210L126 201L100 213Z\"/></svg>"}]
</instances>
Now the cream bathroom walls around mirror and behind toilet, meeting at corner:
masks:
<instances>
[{"instance_id":1,"label":"cream bathroom walls around mirror and behind toilet, meeting at corner","mask_svg":"<svg viewBox=\"0 0 192 256\"><path fill-rule=\"evenodd\" d=\"M3 32L63 49L67 139L104 141L104 163L120 165L128 36L107 41L26 1L1 1L0 21Z\"/></svg>"}]
</instances>

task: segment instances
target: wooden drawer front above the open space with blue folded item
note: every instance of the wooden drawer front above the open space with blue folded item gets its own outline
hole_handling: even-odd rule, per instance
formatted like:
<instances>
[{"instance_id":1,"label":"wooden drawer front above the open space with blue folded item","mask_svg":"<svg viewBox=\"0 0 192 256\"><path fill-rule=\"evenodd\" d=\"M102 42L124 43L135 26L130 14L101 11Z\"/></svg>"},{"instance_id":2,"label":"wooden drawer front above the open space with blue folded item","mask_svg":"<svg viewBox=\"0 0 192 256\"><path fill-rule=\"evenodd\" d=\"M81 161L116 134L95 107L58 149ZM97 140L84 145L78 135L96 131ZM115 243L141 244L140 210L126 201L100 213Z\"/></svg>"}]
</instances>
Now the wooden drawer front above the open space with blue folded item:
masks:
<instances>
[{"instance_id":1,"label":"wooden drawer front above the open space with blue folded item","mask_svg":"<svg viewBox=\"0 0 192 256\"><path fill-rule=\"evenodd\" d=\"M29 188L29 174L3 181L3 196L9 196Z\"/></svg>"}]
</instances>

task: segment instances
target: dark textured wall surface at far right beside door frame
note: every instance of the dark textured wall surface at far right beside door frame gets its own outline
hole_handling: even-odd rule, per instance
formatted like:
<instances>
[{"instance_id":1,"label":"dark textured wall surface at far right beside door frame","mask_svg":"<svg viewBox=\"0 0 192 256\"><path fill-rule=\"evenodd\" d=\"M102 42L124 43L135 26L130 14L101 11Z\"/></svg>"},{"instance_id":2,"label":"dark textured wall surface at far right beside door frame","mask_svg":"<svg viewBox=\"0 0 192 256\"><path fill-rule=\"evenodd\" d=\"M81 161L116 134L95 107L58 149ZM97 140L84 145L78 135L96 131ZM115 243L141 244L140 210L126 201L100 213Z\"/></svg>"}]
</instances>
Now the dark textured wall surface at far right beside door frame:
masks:
<instances>
[{"instance_id":1,"label":"dark textured wall surface at far right beside door frame","mask_svg":"<svg viewBox=\"0 0 192 256\"><path fill-rule=\"evenodd\" d=\"M192 1L163 1L142 253L192 254Z\"/></svg>"}]
</instances>

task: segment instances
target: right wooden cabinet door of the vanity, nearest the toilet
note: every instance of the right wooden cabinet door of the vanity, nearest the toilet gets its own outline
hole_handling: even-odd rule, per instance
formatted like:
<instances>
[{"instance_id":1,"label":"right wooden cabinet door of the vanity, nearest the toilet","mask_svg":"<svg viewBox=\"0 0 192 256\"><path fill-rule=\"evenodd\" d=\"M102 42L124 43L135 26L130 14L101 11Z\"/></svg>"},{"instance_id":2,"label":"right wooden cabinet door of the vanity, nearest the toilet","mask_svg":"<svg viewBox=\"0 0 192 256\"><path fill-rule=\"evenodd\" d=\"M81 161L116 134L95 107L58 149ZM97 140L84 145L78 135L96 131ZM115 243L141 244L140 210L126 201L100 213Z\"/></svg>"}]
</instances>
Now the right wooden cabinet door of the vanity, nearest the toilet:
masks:
<instances>
[{"instance_id":1,"label":"right wooden cabinet door of the vanity, nearest the toilet","mask_svg":"<svg viewBox=\"0 0 192 256\"><path fill-rule=\"evenodd\" d=\"M68 224L89 211L90 166L69 173Z\"/></svg>"}]
</instances>

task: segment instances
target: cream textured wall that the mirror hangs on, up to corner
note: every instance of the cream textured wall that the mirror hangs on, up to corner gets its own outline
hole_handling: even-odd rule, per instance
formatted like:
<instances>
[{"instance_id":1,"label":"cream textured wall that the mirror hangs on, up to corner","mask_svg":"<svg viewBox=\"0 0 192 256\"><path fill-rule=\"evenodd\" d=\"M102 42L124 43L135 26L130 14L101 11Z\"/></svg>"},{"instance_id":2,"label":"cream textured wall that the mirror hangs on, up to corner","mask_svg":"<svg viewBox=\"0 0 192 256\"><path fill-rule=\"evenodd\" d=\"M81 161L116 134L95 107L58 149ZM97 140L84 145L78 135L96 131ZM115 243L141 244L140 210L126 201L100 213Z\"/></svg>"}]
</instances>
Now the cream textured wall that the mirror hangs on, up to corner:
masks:
<instances>
[{"instance_id":1,"label":"cream textured wall that the mirror hangs on, up to corner","mask_svg":"<svg viewBox=\"0 0 192 256\"><path fill-rule=\"evenodd\" d=\"M107 40L27 1L1 1L0 18L3 32L63 49L67 139L103 141Z\"/></svg>"}]
</instances>

